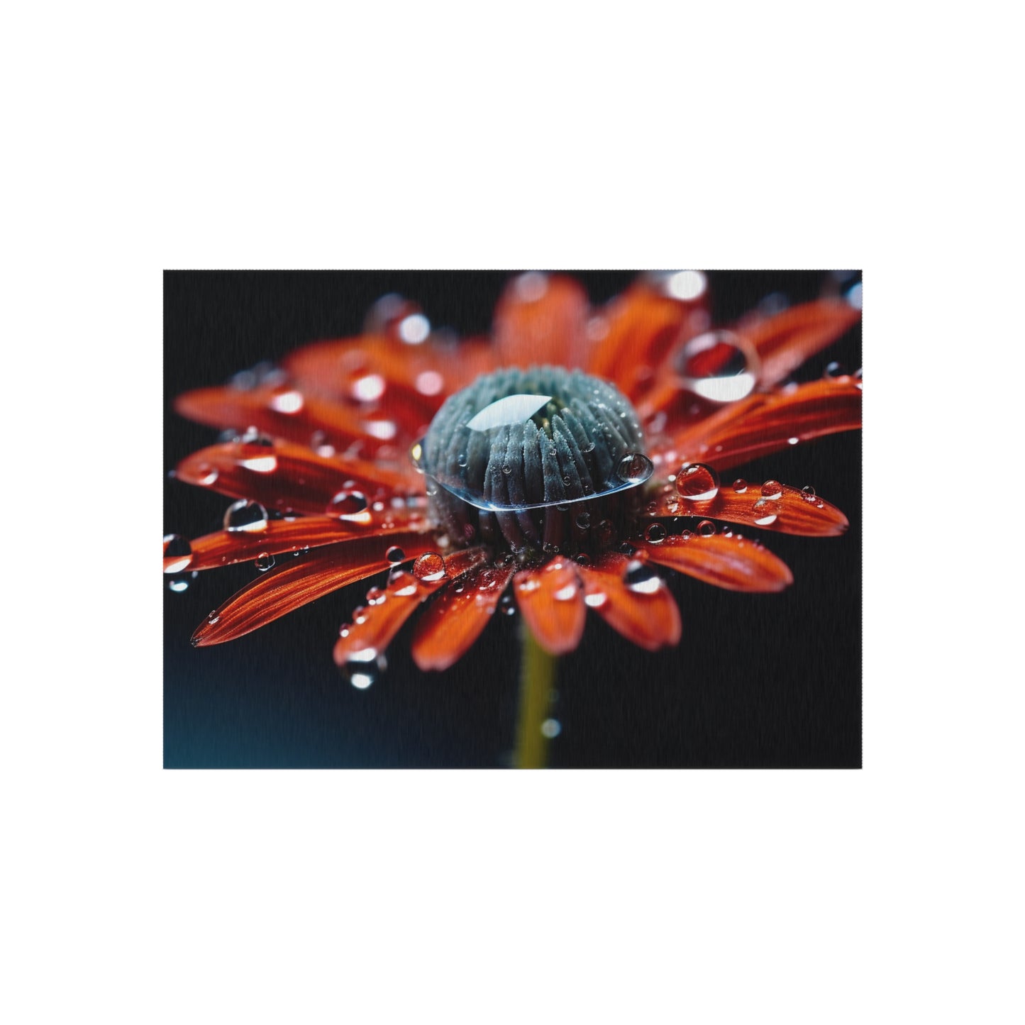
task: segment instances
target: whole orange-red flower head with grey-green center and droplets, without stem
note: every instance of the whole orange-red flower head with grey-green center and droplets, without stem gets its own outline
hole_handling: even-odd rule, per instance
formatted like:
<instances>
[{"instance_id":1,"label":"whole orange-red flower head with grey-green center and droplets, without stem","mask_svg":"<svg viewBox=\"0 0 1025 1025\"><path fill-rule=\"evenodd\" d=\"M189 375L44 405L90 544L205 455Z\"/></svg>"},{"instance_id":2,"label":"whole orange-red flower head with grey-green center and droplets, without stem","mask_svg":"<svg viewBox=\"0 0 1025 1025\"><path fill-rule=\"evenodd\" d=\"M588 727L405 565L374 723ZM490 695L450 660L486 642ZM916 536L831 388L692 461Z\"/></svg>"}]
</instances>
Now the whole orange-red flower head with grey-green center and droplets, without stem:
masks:
<instances>
[{"instance_id":1,"label":"whole orange-red flower head with grey-green center and droplets, without stem","mask_svg":"<svg viewBox=\"0 0 1025 1025\"><path fill-rule=\"evenodd\" d=\"M165 538L164 570L245 561L266 570L193 643L234 640L388 570L386 586L371 588L340 631L334 657L351 671L377 659L421 605L413 657L443 669L503 603L516 603L552 654L576 648L588 607L654 650L681 637L656 567L734 590L787 586L788 568L736 527L828 536L847 519L809 489L719 478L860 426L860 376L781 385L860 314L821 299L712 331L707 303L697 272L642 279L600 310L576 282L530 274L509 284L490 339L456 342L386 296L359 338L313 344L280 370L180 397L182 415L238 434L183 460L177 477L238 501L223 531ZM524 372L490 376L501 368ZM550 405L518 407L511 427L507 417L480 419L514 395ZM478 426L446 412L456 409L477 410ZM622 422L610 425L610 410ZM524 426L530 439L509 441ZM502 464L504 445L515 465Z\"/></svg>"}]
</instances>

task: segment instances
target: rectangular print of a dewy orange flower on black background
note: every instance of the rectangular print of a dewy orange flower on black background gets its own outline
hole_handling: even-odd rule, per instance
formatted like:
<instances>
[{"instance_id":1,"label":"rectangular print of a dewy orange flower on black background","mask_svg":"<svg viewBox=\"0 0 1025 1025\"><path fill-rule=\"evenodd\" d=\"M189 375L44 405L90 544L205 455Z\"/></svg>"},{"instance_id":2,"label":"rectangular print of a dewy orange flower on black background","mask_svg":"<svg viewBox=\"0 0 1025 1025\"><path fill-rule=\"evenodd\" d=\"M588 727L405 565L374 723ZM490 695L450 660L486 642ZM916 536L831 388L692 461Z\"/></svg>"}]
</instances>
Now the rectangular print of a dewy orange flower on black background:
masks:
<instances>
[{"instance_id":1,"label":"rectangular print of a dewy orange flower on black background","mask_svg":"<svg viewBox=\"0 0 1025 1025\"><path fill-rule=\"evenodd\" d=\"M860 272L164 304L167 768L860 767Z\"/></svg>"}]
</instances>

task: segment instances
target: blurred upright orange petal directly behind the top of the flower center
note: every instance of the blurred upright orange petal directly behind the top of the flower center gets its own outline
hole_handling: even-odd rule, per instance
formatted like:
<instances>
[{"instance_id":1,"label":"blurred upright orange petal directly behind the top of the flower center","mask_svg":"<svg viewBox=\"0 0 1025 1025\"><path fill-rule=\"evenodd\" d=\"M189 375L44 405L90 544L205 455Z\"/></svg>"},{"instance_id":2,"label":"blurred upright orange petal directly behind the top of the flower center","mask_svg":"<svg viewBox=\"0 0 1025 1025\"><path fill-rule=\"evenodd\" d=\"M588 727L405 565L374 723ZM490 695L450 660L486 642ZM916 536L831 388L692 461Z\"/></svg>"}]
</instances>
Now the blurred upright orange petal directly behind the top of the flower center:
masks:
<instances>
[{"instance_id":1,"label":"blurred upright orange petal directly behind the top of the flower center","mask_svg":"<svg viewBox=\"0 0 1025 1025\"><path fill-rule=\"evenodd\" d=\"M588 345L587 293L571 278L531 272L509 282L495 308L500 363L579 367Z\"/></svg>"}]
</instances>

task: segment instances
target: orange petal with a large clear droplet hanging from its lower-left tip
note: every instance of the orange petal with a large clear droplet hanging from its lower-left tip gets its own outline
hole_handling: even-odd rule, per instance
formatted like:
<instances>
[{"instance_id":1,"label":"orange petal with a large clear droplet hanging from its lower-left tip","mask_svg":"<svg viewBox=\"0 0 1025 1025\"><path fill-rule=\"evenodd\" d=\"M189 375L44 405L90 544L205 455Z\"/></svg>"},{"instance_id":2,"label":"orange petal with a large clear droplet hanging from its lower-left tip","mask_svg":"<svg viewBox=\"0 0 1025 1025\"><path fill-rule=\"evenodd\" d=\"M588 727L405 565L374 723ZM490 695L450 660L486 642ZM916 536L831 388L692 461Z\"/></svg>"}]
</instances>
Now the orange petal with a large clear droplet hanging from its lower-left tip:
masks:
<instances>
[{"instance_id":1,"label":"orange petal with a large clear droplet hanging from its lower-left tip","mask_svg":"<svg viewBox=\"0 0 1025 1025\"><path fill-rule=\"evenodd\" d=\"M387 587L376 596L376 604L368 604L360 613L359 621L342 627L334 646L335 663L343 665L357 655L364 659L376 658L422 602L450 581L481 566L486 558L484 548L457 551L445 560L444 575L437 580L420 580L406 570L393 574Z\"/></svg>"}]
</instances>

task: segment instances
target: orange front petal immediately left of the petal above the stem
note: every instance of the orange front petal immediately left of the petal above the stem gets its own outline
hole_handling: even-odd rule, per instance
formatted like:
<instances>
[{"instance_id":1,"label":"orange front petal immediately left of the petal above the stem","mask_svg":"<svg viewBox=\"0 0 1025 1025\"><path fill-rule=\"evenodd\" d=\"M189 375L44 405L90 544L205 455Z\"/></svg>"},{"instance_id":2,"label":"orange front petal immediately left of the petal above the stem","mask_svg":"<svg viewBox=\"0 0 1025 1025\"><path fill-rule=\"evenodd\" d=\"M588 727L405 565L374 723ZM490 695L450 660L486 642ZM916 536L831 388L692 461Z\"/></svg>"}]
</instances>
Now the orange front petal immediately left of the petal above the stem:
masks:
<instances>
[{"instance_id":1,"label":"orange front petal immediately left of the petal above the stem","mask_svg":"<svg viewBox=\"0 0 1025 1025\"><path fill-rule=\"evenodd\" d=\"M458 662L490 622L511 575L510 566L491 566L464 577L461 587L449 584L417 621L411 649L416 664L426 670Z\"/></svg>"}]
</instances>

